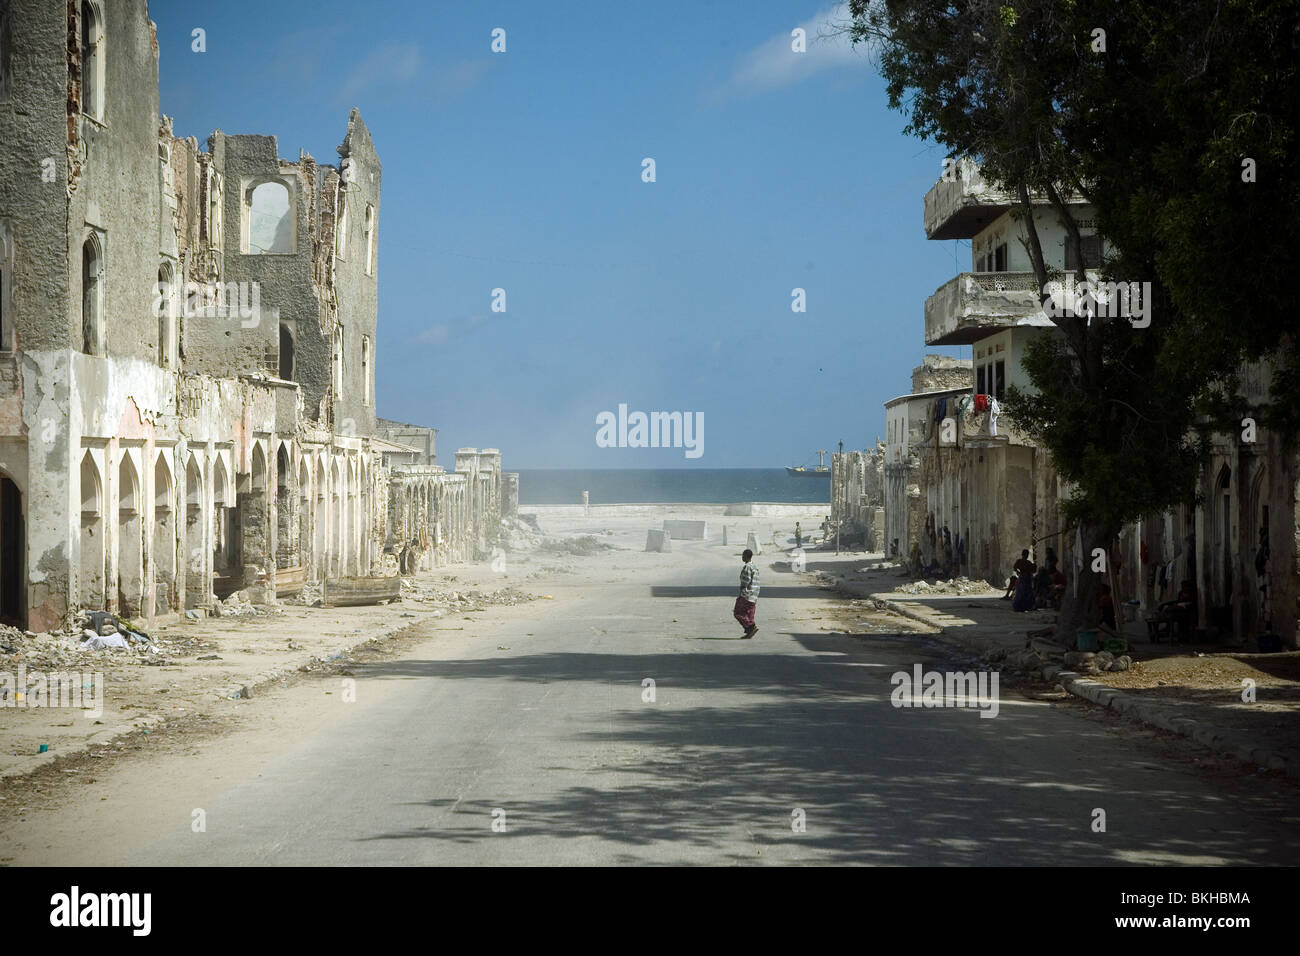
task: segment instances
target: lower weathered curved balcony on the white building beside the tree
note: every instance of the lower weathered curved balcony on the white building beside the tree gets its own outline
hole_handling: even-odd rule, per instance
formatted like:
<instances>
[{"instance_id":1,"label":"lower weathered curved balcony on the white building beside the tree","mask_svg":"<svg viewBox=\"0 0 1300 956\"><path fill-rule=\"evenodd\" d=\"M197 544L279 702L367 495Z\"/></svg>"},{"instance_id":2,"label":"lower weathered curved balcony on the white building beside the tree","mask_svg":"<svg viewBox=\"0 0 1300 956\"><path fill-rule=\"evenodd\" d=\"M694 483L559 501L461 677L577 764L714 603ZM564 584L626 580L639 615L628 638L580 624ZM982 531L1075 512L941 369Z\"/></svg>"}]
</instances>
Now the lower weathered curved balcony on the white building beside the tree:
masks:
<instances>
[{"instance_id":1,"label":"lower weathered curved balcony on the white building beside the tree","mask_svg":"<svg viewBox=\"0 0 1300 956\"><path fill-rule=\"evenodd\" d=\"M1032 272L963 272L926 299L926 345L970 345L1002 329L1052 328Z\"/></svg>"}]
</instances>

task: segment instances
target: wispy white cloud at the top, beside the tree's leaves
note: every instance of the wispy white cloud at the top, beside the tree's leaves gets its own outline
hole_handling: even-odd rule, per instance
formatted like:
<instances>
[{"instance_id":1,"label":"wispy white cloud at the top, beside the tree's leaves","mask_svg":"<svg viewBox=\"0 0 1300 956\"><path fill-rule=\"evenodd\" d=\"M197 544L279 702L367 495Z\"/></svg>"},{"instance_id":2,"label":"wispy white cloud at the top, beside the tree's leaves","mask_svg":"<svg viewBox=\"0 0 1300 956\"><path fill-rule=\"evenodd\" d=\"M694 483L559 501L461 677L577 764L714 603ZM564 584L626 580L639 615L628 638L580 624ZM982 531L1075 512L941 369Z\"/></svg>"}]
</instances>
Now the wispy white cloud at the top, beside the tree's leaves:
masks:
<instances>
[{"instance_id":1,"label":"wispy white cloud at the top, beside the tree's leaves","mask_svg":"<svg viewBox=\"0 0 1300 956\"><path fill-rule=\"evenodd\" d=\"M714 104L727 99L780 90L802 83L810 77L832 69L866 66L864 49L854 49L844 27L849 21L845 4L827 7L820 13L749 51L736 62L731 77L707 94ZM794 27L803 30L806 51L796 53L790 46Z\"/></svg>"}]
</instances>

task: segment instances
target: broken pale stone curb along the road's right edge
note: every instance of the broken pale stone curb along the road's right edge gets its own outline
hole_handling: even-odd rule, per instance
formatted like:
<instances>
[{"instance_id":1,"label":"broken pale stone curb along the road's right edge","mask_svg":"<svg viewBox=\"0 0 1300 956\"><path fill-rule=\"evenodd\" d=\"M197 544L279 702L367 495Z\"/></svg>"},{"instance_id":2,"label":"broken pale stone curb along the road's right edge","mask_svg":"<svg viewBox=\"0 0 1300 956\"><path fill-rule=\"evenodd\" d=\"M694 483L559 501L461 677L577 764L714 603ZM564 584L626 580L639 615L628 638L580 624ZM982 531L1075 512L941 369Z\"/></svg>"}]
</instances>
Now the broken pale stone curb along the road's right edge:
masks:
<instances>
[{"instance_id":1,"label":"broken pale stone curb along the road's right edge","mask_svg":"<svg viewBox=\"0 0 1300 956\"><path fill-rule=\"evenodd\" d=\"M840 584L842 585L842 583ZM879 597L878 594L871 594L870 597L879 601L894 614L936 628L937 636L946 644L959 646L963 650L979 652L988 649L987 643L975 637L965 637L953 632L949 627L936 624L933 618L928 618L918 611L914 611L900 601ZM1282 770L1287 777L1300 779L1300 761L1290 760L1286 754L1278 753L1277 750L1252 747L1249 743L1226 737L1214 732L1214 730L1205 722L1180 714L1176 710L1162 706L1156 701L1141 700L1135 695L1124 693L1118 688L1102 684L1100 680L1092 680L1076 674L1075 671L1067 671L1054 663L1045 666L1041 671L1041 676L1045 680L1058 682L1066 692L1074 697L1080 697L1102 708L1110 708L1112 710L1124 714L1126 717L1132 717L1143 723L1184 736L1201 747L1206 747L1218 753L1228 753L1247 763L1253 763L1265 770Z\"/></svg>"}]
</instances>

